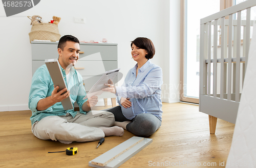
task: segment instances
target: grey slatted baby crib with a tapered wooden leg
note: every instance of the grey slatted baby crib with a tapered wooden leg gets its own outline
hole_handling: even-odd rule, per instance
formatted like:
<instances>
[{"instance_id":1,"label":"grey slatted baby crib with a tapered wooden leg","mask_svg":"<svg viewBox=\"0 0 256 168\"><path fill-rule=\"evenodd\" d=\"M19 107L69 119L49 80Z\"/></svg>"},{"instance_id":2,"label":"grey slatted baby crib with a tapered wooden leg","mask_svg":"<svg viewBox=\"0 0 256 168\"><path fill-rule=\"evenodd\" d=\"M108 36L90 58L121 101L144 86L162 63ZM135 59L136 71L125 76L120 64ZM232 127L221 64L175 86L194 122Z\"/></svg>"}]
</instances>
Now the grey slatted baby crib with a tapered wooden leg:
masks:
<instances>
[{"instance_id":1,"label":"grey slatted baby crib with a tapered wooden leg","mask_svg":"<svg viewBox=\"0 0 256 168\"><path fill-rule=\"evenodd\" d=\"M216 131L217 118L236 123L253 6L256 1L248 0L201 19L199 111L209 115L211 134Z\"/></svg>"}]
</instances>

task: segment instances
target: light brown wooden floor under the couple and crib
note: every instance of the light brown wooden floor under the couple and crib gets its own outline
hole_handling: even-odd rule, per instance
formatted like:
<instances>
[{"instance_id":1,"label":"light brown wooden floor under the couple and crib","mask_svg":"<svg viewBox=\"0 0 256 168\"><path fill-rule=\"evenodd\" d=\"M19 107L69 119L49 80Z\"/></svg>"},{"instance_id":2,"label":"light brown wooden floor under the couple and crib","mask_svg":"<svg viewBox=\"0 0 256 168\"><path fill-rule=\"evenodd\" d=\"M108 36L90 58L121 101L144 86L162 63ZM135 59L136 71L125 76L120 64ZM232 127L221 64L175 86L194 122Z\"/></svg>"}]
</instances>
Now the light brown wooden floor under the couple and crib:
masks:
<instances>
[{"instance_id":1,"label":"light brown wooden floor under the couple and crib","mask_svg":"<svg viewBox=\"0 0 256 168\"><path fill-rule=\"evenodd\" d=\"M122 137L105 137L98 149L98 141L66 145L36 138L31 132L31 111L0 112L0 116L0 167L90 167L89 161L134 136L125 131ZM153 142L120 167L221 167L233 130L234 124L218 119L216 134L210 135L208 115L198 106L164 103L162 126L149 137ZM78 153L48 153L69 147L77 147Z\"/></svg>"}]
</instances>

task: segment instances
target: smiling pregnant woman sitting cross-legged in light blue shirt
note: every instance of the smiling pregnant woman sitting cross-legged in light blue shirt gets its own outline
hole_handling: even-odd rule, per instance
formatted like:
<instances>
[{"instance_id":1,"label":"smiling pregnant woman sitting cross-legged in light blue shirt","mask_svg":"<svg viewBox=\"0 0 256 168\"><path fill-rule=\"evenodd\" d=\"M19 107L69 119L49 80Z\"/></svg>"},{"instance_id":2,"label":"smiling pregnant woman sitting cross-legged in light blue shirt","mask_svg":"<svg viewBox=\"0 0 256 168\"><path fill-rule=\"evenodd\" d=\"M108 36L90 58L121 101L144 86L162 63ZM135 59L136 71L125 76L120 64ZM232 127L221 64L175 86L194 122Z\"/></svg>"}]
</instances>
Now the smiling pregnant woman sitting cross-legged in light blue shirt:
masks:
<instances>
[{"instance_id":1,"label":"smiling pregnant woman sitting cross-legged in light blue shirt","mask_svg":"<svg viewBox=\"0 0 256 168\"><path fill-rule=\"evenodd\" d=\"M138 37L131 43L131 54L137 64L129 70L122 86L105 84L102 89L117 95L119 106L106 111L115 115L115 125L137 136L150 136L161 126L162 69L150 59L155 55L153 42Z\"/></svg>"}]
</instances>

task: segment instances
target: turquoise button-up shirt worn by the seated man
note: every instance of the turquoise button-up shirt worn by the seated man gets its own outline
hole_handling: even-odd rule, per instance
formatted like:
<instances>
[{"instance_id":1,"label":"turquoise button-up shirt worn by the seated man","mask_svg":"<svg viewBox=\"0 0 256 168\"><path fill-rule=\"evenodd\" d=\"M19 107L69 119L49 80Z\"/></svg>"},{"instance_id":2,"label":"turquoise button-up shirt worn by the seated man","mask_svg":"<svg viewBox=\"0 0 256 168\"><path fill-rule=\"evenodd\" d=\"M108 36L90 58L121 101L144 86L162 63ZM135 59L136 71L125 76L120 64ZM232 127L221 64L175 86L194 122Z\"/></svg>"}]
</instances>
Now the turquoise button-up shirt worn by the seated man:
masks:
<instances>
[{"instance_id":1,"label":"turquoise button-up shirt worn by the seated man","mask_svg":"<svg viewBox=\"0 0 256 168\"><path fill-rule=\"evenodd\" d=\"M82 105L87 101L87 99L83 100L86 96L86 90L83 86L82 76L74 69L74 67L71 67L69 72L70 79L69 83L67 83L66 71L61 66L60 68L68 90L70 90L70 98L73 106L74 103L77 102L80 112L86 114L86 111L82 111ZM61 102L54 104L46 110L37 111L36 107L38 101L49 97L52 94L53 89L53 81L46 65L40 66L33 75L29 93L28 105L29 109L32 111L32 116L30 117L32 125L36 121L40 121L40 119L50 115L66 115L67 112L73 117L76 115L77 112L74 110L64 110Z\"/></svg>"}]
</instances>

